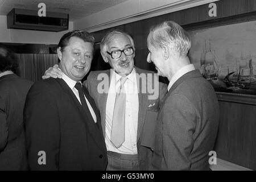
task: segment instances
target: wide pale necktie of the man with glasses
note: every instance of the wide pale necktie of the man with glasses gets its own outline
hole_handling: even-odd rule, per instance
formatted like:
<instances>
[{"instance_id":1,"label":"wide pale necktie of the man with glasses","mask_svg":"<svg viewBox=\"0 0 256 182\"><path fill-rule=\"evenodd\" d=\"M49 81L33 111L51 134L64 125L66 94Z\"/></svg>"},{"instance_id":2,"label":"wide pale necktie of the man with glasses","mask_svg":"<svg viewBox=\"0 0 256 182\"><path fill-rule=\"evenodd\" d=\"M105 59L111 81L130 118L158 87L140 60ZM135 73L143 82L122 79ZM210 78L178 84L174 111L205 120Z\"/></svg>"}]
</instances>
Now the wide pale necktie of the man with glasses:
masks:
<instances>
[{"instance_id":1,"label":"wide pale necktie of the man with glasses","mask_svg":"<svg viewBox=\"0 0 256 182\"><path fill-rule=\"evenodd\" d=\"M120 87L117 90L115 96L115 105L111 130L111 142L116 148L121 147L125 142L125 105L126 105L126 93L124 92L124 84L127 80L126 77L121 77Z\"/></svg>"}]
</instances>

